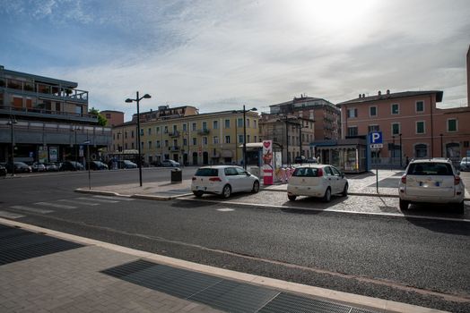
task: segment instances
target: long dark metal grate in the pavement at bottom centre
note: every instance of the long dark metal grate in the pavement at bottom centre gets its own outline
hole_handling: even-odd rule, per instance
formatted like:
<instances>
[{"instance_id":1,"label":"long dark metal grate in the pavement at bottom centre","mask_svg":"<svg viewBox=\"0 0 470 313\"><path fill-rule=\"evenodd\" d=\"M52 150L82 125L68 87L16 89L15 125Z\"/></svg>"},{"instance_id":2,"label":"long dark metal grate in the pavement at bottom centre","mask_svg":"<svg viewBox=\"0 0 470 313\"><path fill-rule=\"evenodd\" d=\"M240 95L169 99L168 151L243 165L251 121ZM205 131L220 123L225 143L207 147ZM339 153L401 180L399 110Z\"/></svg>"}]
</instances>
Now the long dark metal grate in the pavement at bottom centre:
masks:
<instances>
[{"instance_id":1,"label":"long dark metal grate in the pavement at bottom centre","mask_svg":"<svg viewBox=\"0 0 470 313\"><path fill-rule=\"evenodd\" d=\"M142 259L101 273L228 312L373 313Z\"/></svg>"}]
</instances>

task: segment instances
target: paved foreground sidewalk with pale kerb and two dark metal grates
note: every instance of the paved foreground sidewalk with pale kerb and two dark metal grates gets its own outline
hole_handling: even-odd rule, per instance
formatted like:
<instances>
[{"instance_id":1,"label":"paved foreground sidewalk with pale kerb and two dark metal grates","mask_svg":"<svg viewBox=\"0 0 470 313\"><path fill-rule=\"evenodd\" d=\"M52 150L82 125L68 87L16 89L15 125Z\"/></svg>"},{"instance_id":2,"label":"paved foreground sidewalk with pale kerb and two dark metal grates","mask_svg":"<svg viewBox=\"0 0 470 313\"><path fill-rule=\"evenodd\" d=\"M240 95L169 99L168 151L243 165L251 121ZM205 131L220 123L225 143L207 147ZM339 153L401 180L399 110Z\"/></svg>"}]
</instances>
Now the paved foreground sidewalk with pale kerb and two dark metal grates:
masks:
<instances>
[{"instance_id":1,"label":"paved foreground sidewalk with pale kerb and two dark metal grates","mask_svg":"<svg viewBox=\"0 0 470 313\"><path fill-rule=\"evenodd\" d=\"M203 266L2 218L0 241L2 312L440 312Z\"/></svg>"}]
</instances>

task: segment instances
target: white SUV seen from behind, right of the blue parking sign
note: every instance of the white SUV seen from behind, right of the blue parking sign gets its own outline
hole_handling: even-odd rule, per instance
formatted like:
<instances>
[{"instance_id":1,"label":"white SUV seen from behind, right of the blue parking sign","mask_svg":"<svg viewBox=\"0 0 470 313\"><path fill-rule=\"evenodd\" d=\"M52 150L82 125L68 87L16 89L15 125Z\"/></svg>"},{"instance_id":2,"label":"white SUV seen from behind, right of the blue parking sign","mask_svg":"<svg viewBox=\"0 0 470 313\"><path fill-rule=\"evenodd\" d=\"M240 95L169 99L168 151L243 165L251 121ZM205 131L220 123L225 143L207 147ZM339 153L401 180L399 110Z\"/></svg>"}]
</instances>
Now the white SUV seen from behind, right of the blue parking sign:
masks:
<instances>
[{"instance_id":1,"label":"white SUV seen from behind, right of the blue parking sign","mask_svg":"<svg viewBox=\"0 0 470 313\"><path fill-rule=\"evenodd\" d=\"M450 160L413 160L398 186L400 209L408 209L411 202L455 203L464 213L465 186L458 174Z\"/></svg>"}]
</instances>

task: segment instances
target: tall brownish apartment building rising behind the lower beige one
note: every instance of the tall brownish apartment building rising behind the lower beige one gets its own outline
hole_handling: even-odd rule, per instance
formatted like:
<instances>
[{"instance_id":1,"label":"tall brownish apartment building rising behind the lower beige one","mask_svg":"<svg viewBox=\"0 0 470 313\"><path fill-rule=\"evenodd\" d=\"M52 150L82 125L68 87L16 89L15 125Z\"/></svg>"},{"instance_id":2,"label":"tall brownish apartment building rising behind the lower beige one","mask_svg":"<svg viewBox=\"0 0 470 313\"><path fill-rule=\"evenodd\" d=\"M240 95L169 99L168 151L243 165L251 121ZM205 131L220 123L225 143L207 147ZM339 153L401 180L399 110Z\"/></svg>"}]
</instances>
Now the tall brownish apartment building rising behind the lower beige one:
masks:
<instances>
[{"instance_id":1,"label":"tall brownish apartment building rising behind the lower beige one","mask_svg":"<svg viewBox=\"0 0 470 313\"><path fill-rule=\"evenodd\" d=\"M320 97L301 95L291 101L269 106L270 114L293 115L315 121L316 140L337 140L340 138L340 109Z\"/></svg>"}]
</instances>

